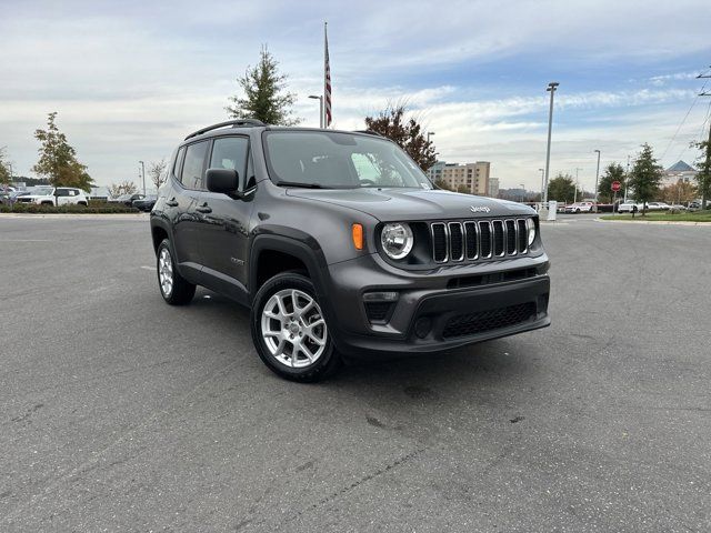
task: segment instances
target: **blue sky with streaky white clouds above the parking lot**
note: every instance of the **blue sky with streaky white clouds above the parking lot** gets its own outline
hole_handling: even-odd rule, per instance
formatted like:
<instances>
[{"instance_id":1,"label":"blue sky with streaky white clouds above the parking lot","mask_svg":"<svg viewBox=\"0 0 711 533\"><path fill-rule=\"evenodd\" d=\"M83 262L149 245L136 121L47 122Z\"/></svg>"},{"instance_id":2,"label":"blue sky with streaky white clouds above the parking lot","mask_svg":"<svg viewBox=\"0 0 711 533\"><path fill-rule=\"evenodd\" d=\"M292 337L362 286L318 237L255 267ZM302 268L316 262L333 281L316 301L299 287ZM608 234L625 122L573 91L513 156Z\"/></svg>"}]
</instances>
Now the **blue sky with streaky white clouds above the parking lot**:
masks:
<instances>
[{"instance_id":1,"label":"blue sky with streaky white clouds above the parking lot","mask_svg":"<svg viewBox=\"0 0 711 533\"><path fill-rule=\"evenodd\" d=\"M139 184L139 160L226 120L237 78L266 44L302 124L318 125L328 20L333 125L405 102L439 159L490 161L500 187L540 190L548 93L551 177L593 189L601 167L649 142L664 167L698 155L711 80L708 0L0 0L0 147L19 175L47 113L98 184ZM578 169L578 170L577 170Z\"/></svg>"}]
</instances>

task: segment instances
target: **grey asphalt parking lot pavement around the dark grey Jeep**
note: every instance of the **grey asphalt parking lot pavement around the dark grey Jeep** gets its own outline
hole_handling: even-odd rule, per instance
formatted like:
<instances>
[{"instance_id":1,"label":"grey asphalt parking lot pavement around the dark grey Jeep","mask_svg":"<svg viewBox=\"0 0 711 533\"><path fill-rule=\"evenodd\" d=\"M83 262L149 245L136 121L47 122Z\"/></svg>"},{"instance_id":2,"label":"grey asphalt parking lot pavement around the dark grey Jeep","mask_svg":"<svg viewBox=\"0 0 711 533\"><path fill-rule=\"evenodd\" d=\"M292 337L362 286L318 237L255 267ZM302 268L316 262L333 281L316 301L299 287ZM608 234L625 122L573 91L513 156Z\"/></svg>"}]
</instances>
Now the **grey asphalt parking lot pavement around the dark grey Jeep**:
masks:
<instances>
[{"instance_id":1,"label":"grey asphalt parking lot pavement around the dark grey Jeep","mask_svg":"<svg viewBox=\"0 0 711 533\"><path fill-rule=\"evenodd\" d=\"M146 219L0 218L0 530L709 531L711 228L543 231L550 329L299 385Z\"/></svg>"}]
</instances>

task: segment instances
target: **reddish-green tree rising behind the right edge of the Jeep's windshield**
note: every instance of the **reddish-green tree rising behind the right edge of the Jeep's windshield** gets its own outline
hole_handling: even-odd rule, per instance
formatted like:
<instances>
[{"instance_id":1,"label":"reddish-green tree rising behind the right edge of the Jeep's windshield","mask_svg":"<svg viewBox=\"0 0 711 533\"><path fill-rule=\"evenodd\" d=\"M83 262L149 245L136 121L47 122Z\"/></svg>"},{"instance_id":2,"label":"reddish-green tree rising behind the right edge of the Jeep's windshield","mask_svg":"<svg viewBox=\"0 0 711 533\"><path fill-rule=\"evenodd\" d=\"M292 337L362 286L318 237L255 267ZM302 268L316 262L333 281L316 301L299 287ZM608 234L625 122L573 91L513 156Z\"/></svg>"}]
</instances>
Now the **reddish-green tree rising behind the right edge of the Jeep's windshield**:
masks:
<instances>
[{"instance_id":1,"label":"reddish-green tree rising behind the right edge of the Jeep's windshield","mask_svg":"<svg viewBox=\"0 0 711 533\"><path fill-rule=\"evenodd\" d=\"M389 104L378 115L365 117L365 128L395 142L424 171L437 162L434 144L428 141L417 118L407 117L404 104Z\"/></svg>"}]
</instances>

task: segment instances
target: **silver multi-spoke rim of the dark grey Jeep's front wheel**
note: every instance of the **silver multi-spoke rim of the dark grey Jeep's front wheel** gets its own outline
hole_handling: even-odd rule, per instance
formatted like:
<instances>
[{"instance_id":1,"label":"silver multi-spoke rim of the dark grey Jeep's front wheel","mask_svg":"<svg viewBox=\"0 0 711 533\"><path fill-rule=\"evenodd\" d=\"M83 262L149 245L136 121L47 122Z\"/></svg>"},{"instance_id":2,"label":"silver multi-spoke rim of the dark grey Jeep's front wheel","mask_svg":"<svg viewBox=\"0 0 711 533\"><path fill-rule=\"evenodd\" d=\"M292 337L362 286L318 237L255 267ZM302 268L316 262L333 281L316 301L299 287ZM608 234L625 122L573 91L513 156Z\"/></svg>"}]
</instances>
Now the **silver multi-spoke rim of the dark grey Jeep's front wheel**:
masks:
<instances>
[{"instance_id":1,"label":"silver multi-spoke rim of the dark grey Jeep's front wheel","mask_svg":"<svg viewBox=\"0 0 711 533\"><path fill-rule=\"evenodd\" d=\"M328 329L321 308L297 289L272 294L262 310L261 330L271 355L291 369L316 363L326 350Z\"/></svg>"}]
</instances>

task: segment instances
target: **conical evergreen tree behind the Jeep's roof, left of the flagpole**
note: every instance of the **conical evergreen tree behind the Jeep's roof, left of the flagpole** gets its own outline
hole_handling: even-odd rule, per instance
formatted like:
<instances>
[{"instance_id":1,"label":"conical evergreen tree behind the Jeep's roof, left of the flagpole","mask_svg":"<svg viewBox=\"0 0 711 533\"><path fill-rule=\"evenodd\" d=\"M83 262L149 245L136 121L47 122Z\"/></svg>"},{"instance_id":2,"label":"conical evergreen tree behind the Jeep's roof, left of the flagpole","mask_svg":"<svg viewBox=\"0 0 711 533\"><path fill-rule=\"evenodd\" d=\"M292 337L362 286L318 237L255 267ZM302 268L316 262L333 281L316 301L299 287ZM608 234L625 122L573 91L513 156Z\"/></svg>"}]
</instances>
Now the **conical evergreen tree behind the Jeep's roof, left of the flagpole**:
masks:
<instances>
[{"instance_id":1,"label":"conical evergreen tree behind the Jeep's roof, left of the flagpole","mask_svg":"<svg viewBox=\"0 0 711 533\"><path fill-rule=\"evenodd\" d=\"M233 119L258 119L266 124L296 125L291 107L297 95L287 91L287 74L279 72L279 62L263 46L259 62L248 67L237 82L242 89L239 95L230 97L232 105L224 108Z\"/></svg>"}]
</instances>

